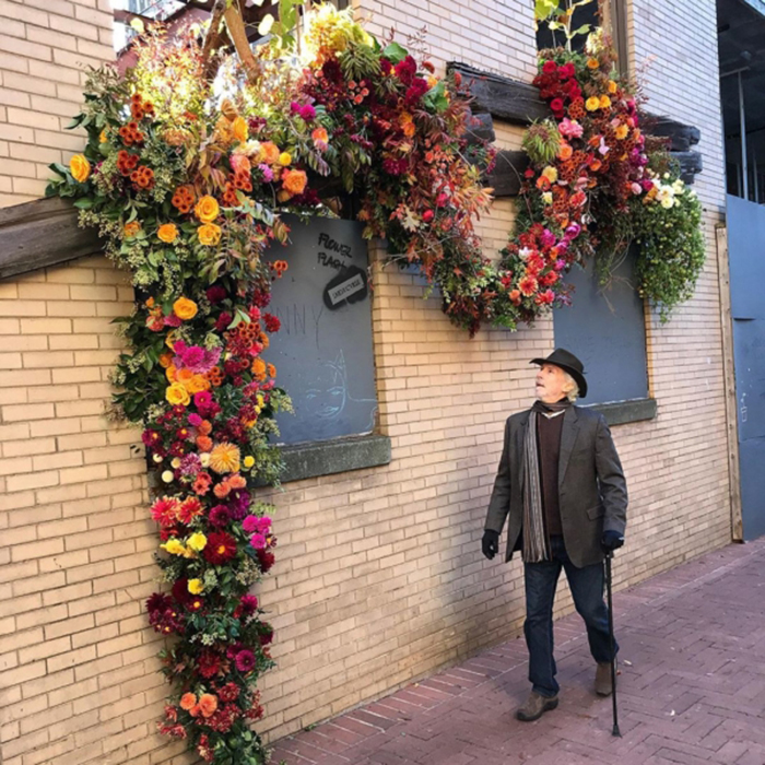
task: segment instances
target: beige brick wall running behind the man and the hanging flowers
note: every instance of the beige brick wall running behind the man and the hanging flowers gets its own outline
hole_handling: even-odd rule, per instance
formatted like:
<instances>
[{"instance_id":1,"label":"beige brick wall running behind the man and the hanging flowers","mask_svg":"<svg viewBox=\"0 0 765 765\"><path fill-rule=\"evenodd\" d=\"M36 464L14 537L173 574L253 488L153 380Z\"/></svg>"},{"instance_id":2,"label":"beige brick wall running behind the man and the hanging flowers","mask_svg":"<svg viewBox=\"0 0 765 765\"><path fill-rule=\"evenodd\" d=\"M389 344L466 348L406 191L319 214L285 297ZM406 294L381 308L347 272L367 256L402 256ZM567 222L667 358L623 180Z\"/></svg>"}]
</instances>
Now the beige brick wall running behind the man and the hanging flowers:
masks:
<instances>
[{"instance_id":1,"label":"beige brick wall running behind the man and the hanging flowers","mask_svg":"<svg viewBox=\"0 0 765 765\"><path fill-rule=\"evenodd\" d=\"M486 0L468 15L463 5L431 3L427 17L425 3L403 0L364 0L362 10L374 11L377 32L427 21L439 63L461 59L529 80L529 4ZM44 13L63 7L48 0ZM695 40L693 57L667 54L695 90L681 71L669 84L657 75L662 85L650 94L703 131L697 188L710 233L722 204L718 104L702 97L715 69L714 14L681 11L679 0L669 3L657 22L652 3L636 3L633 50L639 58L671 50L684 34ZM463 25L475 35L469 43ZM484 45L495 34L506 43ZM519 134L497 126L504 146L517 146ZM498 202L481 225L487 254L510 223L510 203ZM666 327L647 320L658 417L613 428L631 491L620 588L730 539L713 244L710 236L696 297ZM276 627L279 668L261 684L261 730L271 739L508 639L522 620L519 562L484 561L480 537L504 420L531 402L528 360L553 348L552 322L468 340L437 298L422 299L413 276L384 269L377 256L374 271L376 377L392 462L261 493L278 506L280 540L260 587ZM166 686L156 673L161 642L143 615L157 538L143 461L130 451L138 434L101 415L116 352L108 319L130 299L102 259L0 283L0 597L10 604L0 615L3 765L190 762L153 733ZM568 610L564 593L557 613Z\"/></svg>"}]
</instances>

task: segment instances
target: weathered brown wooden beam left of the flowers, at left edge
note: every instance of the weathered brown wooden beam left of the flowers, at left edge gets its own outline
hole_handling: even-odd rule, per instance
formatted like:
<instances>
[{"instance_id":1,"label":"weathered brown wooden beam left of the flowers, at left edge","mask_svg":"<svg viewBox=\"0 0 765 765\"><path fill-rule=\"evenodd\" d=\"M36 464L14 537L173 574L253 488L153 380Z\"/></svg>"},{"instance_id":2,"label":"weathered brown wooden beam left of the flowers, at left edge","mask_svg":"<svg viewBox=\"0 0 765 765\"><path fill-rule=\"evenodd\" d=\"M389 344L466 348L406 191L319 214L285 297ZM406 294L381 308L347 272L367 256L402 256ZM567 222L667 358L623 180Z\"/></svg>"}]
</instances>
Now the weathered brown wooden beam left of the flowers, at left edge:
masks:
<instances>
[{"instance_id":1,"label":"weathered brown wooden beam left of the flowers, at left edge","mask_svg":"<svg viewBox=\"0 0 765 765\"><path fill-rule=\"evenodd\" d=\"M76 219L58 197L0 209L0 279L103 251L95 229L80 228Z\"/></svg>"}]
</instances>

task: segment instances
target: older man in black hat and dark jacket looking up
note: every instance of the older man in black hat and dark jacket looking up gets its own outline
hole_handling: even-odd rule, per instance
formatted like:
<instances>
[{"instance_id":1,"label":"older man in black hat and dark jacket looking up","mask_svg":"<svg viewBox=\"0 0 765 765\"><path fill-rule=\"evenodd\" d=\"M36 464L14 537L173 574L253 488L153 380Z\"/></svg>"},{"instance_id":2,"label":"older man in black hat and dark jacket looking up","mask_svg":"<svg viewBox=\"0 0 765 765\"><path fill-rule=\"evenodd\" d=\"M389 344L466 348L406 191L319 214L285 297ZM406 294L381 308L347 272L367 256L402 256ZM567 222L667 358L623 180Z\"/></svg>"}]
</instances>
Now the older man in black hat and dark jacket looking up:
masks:
<instances>
[{"instance_id":1,"label":"older man in black hat and dark jacket looking up","mask_svg":"<svg viewBox=\"0 0 765 765\"><path fill-rule=\"evenodd\" d=\"M540 365L537 400L505 425L482 542L483 554L492 560L507 518L505 560L518 550L522 554L532 688L516 716L525 721L557 706L553 600L561 568L587 625L598 664L595 690L602 696L612 693L603 556L624 543L627 510L622 464L603 415L574 405L587 395L581 362L556 349L531 363Z\"/></svg>"}]
</instances>

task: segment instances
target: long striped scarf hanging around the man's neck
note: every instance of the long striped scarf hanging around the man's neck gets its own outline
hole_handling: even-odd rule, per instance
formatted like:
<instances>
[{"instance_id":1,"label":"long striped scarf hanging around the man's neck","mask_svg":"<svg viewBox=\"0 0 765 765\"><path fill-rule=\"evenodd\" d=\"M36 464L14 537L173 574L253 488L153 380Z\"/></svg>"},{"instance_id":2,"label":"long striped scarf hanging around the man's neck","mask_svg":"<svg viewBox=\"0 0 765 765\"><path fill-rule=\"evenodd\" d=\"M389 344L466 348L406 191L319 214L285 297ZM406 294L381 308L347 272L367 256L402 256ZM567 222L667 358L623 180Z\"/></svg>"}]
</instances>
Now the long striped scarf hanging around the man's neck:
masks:
<instances>
[{"instance_id":1,"label":"long striped scarf hanging around the man's neck","mask_svg":"<svg viewBox=\"0 0 765 765\"><path fill-rule=\"evenodd\" d=\"M548 534L544 529L544 509L542 507L542 474L539 469L539 448L537 445L537 417L556 416L570 407L564 399L556 403L534 401L529 413L523 445L523 562L539 563L550 561ZM564 415L562 415L564 416Z\"/></svg>"}]
</instances>

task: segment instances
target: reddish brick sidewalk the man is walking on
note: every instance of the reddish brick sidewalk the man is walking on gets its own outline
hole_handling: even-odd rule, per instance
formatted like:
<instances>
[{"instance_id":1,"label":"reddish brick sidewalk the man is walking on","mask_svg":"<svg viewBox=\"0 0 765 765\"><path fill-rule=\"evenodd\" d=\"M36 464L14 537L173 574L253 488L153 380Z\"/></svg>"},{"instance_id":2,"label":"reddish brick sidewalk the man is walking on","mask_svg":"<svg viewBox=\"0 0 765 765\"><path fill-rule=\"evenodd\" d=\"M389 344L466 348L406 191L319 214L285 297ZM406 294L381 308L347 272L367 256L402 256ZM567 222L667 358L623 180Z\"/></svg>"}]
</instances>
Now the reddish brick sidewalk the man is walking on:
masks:
<instances>
[{"instance_id":1,"label":"reddish brick sidewalk the man is walking on","mask_svg":"<svg viewBox=\"0 0 765 765\"><path fill-rule=\"evenodd\" d=\"M765 765L765 540L731 544L614 596L622 739L591 691L581 620L556 622L557 710L518 722L511 640L278 742L287 765ZM627 663L628 662L628 663Z\"/></svg>"}]
</instances>

